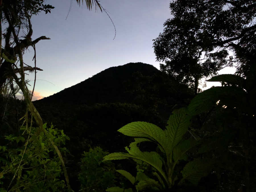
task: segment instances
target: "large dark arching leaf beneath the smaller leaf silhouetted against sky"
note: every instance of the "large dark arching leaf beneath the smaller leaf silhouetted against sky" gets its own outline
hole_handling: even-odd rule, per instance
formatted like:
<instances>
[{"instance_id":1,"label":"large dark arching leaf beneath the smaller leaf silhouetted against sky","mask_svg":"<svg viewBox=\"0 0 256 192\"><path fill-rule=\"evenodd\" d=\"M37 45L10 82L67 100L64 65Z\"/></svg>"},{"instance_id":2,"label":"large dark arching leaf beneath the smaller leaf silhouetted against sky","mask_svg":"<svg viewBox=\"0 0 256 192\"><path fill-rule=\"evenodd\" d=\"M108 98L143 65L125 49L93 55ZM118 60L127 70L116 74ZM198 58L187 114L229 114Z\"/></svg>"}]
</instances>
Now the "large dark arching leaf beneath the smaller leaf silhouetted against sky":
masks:
<instances>
[{"instance_id":1,"label":"large dark arching leaf beneath the smaller leaf silhouetted against sky","mask_svg":"<svg viewBox=\"0 0 256 192\"><path fill-rule=\"evenodd\" d=\"M246 103L246 93L242 88L232 86L212 87L195 96L188 106L190 115L209 111L220 100L226 106L242 106Z\"/></svg>"}]
</instances>

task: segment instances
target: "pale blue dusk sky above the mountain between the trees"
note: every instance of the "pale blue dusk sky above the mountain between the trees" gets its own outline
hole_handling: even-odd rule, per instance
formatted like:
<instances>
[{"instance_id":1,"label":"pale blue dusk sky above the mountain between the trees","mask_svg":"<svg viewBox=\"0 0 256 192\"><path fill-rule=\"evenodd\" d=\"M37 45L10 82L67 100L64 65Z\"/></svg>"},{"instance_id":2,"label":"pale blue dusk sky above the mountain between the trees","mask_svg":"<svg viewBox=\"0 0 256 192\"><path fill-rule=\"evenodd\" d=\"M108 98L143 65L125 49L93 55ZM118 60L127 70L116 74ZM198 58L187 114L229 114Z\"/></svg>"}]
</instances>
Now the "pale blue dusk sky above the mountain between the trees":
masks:
<instances>
[{"instance_id":1,"label":"pale blue dusk sky above the mountain between the trees","mask_svg":"<svg viewBox=\"0 0 256 192\"><path fill-rule=\"evenodd\" d=\"M44 71L36 73L33 100L50 96L113 66L142 62L159 69L152 40L172 17L170 0L101 0L113 20L116 36L104 12L89 11L85 4L79 7L75 0L70 12L69 0L46 3L55 7L51 13L39 13L31 19L32 40L40 36L51 38L36 44L36 67ZM24 54L24 62L34 66L33 57L34 50L30 47ZM33 85L34 73L26 79Z\"/></svg>"}]
</instances>

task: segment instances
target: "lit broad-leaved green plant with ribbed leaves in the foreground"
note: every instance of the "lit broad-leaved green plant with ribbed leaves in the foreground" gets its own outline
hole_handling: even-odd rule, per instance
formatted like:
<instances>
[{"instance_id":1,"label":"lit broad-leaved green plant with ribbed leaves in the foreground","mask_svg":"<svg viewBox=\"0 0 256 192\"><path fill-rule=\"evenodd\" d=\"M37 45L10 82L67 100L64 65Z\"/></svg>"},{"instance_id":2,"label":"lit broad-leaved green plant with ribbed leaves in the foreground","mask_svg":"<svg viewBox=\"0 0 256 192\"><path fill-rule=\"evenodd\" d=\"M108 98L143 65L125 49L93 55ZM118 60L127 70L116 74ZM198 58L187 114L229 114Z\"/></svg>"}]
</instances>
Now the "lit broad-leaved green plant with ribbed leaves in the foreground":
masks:
<instances>
[{"instance_id":1,"label":"lit broad-leaved green plant with ribbed leaves in the foreground","mask_svg":"<svg viewBox=\"0 0 256 192\"><path fill-rule=\"evenodd\" d=\"M199 144L199 141L193 139L183 139L187 132L191 115L188 115L186 108L174 110L168 120L168 126L165 130L147 122L132 122L118 131L124 135L134 137L135 141L129 147L125 147L128 153L115 152L104 157L106 160L118 160L132 158L146 162L155 170L150 178L139 171L137 176L132 176L125 170L117 170L125 176L132 184L136 185L137 191L146 188L154 190L171 189L175 185L183 185L184 181L197 185L200 179L206 176L212 166L209 160L195 158L188 161L187 151ZM138 144L142 142L153 142L158 145L160 152L142 152ZM177 166L180 162L187 162L180 170ZM157 179L157 180L155 180ZM111 187L107 191L123 191L119 187ZM128 189L126 189L128 192Z\"/></svg>"}]
</instances>

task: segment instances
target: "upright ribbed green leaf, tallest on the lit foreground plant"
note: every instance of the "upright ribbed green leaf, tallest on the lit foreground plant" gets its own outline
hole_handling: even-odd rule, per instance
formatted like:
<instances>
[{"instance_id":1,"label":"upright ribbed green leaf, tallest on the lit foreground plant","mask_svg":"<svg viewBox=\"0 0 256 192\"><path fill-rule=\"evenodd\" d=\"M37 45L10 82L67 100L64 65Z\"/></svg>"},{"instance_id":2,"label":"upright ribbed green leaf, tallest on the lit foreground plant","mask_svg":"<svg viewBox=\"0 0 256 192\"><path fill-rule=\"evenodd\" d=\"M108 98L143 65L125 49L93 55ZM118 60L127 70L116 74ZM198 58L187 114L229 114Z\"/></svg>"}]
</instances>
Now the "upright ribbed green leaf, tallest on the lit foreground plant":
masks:
<instances>
[{"instance_id":1,"label":"upright ribbed green leaf, tallest on the lit foreground plant","mask_svg":"<svg viewBox=\"0 0 256 192\"><path fill-rule=\"evenodd\" d=\"M170 115L166 126L166 135L169 139L168 150L166 155L172 153L174 146L176 146L182 139L182 136L187 132L190 124L190 117L187 115L187 109L181 108L174 110Z\"/></svg>"}]
</instances>

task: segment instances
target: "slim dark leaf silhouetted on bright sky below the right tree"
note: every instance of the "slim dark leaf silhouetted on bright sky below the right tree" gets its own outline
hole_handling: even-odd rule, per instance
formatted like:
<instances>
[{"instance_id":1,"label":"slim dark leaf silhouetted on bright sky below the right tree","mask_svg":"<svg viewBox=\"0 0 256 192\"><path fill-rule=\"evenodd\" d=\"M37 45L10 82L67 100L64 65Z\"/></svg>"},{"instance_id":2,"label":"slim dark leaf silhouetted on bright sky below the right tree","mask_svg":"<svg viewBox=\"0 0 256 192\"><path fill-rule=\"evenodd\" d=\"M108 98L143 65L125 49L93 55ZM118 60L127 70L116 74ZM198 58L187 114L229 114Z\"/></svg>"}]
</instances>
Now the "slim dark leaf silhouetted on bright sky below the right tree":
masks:
<instances>
[{"instance_id":1,"label":"slim dark leaf silhouetted on bright sky below the right tree","mask_svg":"<svg viewBox=\"0 0 256 192\"><path fill-rule=\"evenodd\" d=\"M243 77L240 77L238 75L233 74L222 74L217 75L215 77L212 77L211 79L207 80L211 82L226 82L232 85L238 85L240 87L243 87L245 85L245 79Z\"/></svg>"}]
</instances>

